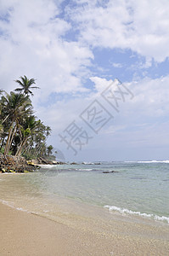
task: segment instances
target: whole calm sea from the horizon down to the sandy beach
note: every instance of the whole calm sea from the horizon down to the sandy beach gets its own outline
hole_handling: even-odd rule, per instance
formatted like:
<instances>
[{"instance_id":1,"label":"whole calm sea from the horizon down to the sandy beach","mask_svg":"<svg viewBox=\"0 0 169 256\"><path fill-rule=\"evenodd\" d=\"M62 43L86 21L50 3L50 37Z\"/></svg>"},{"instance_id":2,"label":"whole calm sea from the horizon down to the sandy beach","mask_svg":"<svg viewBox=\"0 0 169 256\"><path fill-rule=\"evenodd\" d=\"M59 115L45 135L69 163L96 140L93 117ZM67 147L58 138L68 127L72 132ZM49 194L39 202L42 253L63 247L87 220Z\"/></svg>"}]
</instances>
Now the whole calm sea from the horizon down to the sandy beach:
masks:
<instances>
[{"instance_id":1,"label":"whole calm sea from the horizon down to the sandy beach","mask_svg":"<svg viewBox=\"0 0 169 256\"><path fill-rule=\"evenodd\" d=\"M93 207L110 217L169 224L169 160L44 165L36 172L2 174L0 201L56 220L60 212Z\"/></svg>"}]
</instances>

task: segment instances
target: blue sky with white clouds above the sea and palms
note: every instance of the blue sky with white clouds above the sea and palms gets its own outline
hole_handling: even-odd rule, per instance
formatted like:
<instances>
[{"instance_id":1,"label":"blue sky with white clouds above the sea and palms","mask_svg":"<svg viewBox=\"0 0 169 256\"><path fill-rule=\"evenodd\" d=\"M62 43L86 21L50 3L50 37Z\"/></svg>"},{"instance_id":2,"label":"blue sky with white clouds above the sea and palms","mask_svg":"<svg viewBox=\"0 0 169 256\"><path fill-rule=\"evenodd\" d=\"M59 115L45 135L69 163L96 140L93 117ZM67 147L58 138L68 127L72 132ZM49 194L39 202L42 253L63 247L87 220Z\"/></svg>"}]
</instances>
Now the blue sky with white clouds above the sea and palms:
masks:
<instances>
[{"instance_id":1,"label":"blue sky with white clouds above the sea and palms","mask_svg":"<svg viewBox=\"0 0 169 256\"><path fill-rule=\"evenodd\" d=\"M168 0L0 0L0 89L36 79L60 160L169 160L168 13Z\"/></svg>"}]
</instances>

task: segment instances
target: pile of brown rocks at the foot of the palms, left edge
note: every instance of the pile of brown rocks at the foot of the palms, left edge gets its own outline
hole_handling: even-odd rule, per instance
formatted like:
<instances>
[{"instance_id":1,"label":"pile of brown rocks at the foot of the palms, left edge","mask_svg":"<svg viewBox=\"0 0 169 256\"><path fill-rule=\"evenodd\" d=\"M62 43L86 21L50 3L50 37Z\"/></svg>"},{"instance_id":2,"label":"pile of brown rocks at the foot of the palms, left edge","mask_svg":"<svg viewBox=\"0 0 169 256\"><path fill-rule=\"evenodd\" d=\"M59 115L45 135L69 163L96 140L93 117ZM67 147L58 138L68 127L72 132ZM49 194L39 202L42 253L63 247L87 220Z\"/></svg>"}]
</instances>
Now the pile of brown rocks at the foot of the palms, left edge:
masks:
<instances>
[{"instance_id":1,"label":"pile of brown rocks at the foot of the palms, left edge","mask_svg":"<svg viewBox=\"0 0 169 256\"><path fill-rule=\"evenodd\" d=\"M33 172L36 169L21 156L0 154L0 172Z\"/></svg>"}]
</instances>

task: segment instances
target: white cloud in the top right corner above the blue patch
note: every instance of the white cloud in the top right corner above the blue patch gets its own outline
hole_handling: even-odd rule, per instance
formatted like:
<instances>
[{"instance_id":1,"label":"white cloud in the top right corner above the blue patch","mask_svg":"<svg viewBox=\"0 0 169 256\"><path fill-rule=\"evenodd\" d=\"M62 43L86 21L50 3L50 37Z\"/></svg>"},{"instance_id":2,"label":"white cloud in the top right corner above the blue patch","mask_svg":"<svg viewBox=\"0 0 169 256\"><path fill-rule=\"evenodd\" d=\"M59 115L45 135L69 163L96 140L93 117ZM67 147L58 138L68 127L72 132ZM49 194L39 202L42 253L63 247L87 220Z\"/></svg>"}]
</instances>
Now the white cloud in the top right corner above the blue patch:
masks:
<instances>
[{"instance_id":1,"label":"white cloud in the top right corner above the blue patch","mask_svg":"<svg viewBox=\"0 0 169 256\"><path fill-rule=\"evenodd\" d=\"M104 8L83 2L86 5L70 11L80 24L82 41L94 47L132 49L160 62L169 56L167 0L109 1Z\"/></svg>"}]
</instances>

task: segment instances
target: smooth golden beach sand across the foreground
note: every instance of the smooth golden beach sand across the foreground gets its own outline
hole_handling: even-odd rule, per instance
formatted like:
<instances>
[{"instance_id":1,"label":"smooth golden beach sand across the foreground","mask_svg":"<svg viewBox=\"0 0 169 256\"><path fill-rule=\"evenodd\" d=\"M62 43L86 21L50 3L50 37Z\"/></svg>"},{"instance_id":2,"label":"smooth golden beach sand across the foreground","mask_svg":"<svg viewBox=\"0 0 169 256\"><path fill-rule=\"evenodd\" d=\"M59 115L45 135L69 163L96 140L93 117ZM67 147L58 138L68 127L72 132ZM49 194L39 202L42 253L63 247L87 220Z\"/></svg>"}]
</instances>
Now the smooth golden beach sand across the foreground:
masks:
<instances>
[{"instance_id":1,"label":"smooth golden beach sand across the foreground","mask_svg":"<svg viewBox=\"0 0 169 256\"><path fill-rule=\"evenodd\" d=\"M111 234L95 230L89 220L86 229L78 225L72 228L0 203L0 255L169 255L168 225L142 229L114 220Z\"/></svg>"}]
</instances>

